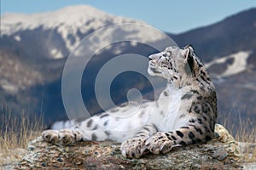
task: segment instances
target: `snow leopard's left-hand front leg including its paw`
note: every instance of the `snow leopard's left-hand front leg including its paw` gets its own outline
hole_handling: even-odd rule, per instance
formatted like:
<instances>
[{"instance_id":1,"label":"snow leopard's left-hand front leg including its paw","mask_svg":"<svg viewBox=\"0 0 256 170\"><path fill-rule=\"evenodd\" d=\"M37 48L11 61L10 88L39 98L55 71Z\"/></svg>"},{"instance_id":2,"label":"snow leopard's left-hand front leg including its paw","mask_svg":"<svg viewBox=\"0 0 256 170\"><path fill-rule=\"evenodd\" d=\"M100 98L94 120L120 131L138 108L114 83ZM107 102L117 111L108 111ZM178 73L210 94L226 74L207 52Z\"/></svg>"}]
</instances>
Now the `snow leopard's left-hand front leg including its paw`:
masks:
<instances>
[{"instance_id":1,"label":"snow leopard's left-hand front leg including its paw","mask_svg":"<svg viewBox=\"0 0 256 170\"><path fill-rule=\"evenodd\" d=\"M145 150L145 142L149 136L157 132L154 124L145 125L134 137L121 144L122 155L129 158L139 158Z\"/></svg>"}]
</instances>

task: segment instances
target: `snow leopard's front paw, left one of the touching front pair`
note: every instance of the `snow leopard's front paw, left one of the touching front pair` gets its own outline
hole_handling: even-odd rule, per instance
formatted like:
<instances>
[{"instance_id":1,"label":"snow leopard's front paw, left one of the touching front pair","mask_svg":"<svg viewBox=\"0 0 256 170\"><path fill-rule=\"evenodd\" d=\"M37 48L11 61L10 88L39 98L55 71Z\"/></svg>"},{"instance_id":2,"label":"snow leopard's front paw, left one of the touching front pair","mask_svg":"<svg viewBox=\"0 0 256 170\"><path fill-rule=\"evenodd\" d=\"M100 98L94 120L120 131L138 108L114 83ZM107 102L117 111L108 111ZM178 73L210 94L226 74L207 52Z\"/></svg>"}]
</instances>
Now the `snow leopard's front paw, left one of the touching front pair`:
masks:
<instances>
[{"instance_id":1,"label":"snow leopard's front paw, left one of the touching front pair","mask_svg":"<svg viewBox=\"0 0 256 170\"><path fill-rule=\"evenodd\" d=\"M131 138L121 144L122 155L128 158L139 158L143 155L146 139Z\"/></svg>"}]
</instances>

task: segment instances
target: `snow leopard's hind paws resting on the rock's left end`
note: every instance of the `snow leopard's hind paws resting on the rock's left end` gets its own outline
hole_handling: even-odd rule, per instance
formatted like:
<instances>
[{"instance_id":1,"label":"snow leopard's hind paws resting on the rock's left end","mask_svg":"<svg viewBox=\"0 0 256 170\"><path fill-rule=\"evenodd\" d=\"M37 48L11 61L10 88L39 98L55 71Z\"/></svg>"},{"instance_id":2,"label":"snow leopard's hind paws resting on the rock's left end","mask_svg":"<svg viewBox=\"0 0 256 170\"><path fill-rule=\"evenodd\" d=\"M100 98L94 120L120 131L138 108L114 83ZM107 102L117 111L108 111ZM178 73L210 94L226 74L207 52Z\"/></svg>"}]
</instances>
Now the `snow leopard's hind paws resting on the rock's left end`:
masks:
<instances>
[{"instance_id":1,"label":"snow leopard's hind paws resting on the rock's left end","mask_svg":"<svg viewBox=\"0 0 256 170\"><path fill-rule=\"evenodd\" d=\"M42 133L42 137L49 143L62 145L73 144L82 139L82 136L79 133L73 133L73 131L69 129L61 129L59 131L45 130Z\"/></svg>"}]
</instances>

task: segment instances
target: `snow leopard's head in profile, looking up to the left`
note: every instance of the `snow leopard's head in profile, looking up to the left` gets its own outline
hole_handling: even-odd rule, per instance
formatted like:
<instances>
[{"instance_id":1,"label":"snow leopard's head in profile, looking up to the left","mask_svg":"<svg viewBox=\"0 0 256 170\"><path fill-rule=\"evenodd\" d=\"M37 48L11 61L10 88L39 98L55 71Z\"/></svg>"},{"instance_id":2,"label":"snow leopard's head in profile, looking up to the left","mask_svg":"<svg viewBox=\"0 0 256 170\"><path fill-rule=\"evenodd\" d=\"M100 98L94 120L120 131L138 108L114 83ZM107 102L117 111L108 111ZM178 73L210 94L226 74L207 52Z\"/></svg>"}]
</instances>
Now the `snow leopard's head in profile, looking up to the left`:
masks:
<instances>
[{"instance_id":1,"label":"snow leopard's head in profile, looking up to the left","mask_svg":"<svg viewBox=\"0 0 256 170\"><path fill-rule=\"evenodd\" d=\"M172 46L166 48L163 52L150 55L148 59L148 74L164 77L168 82L195 77L201 69L206 71L201 60L196 57L191 45L184 48Z\"/></svg>"}]
</instances>

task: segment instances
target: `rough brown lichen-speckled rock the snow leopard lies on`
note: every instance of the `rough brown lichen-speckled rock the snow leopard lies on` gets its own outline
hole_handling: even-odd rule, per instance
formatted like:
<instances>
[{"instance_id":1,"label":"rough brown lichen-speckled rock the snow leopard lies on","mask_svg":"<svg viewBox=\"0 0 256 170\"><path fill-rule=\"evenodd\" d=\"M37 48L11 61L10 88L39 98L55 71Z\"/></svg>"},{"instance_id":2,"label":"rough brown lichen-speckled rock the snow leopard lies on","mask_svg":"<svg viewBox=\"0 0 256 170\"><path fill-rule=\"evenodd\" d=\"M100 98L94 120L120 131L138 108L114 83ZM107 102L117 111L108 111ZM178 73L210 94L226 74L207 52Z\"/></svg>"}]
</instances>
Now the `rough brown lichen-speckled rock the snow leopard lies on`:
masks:
<instances>
[{"instance_id":1,"label":"rough brown lichen-speckled rock the snow leopard lies on","mask_svg":"<svg viewBox=\"0 0 256 170\"><path fill-rule=\"evenodd\" d=\"M28 144L29 153L15 169L232 169L240 168L238 143L221 125L216 138L203 144L174 148L166 155L147 154L140 159L121 156L119 144L80 142L58 146L41 137Z\"/></svg>"}]
</instances>

